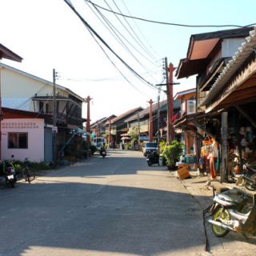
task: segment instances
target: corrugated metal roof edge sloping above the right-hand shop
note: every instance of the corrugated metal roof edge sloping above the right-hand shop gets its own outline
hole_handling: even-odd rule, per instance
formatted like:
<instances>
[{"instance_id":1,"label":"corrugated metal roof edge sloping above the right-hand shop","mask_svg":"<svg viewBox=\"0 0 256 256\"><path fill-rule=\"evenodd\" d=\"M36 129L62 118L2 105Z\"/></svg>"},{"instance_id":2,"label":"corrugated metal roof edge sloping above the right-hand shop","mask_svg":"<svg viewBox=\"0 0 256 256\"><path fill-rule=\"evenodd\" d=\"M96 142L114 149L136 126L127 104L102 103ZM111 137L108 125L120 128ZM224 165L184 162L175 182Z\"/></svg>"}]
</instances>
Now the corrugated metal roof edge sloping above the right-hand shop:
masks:
<instances>
[{"instance_id":1,"label":"corrugated metal roof edge sloping above the right-hand shop","mask_svg":"<svg viewBox=\"0 0 256 256\"><path fill-rule=\"evenodd\" d=\"M226 64L222 73L218 76L214 85L211 87L206 99L200 104L200 106L205 106L209 104L210 101L220 92L230 78L235 74L235 72L241 67L242 63L245 62L246 58L250 56L252 50L256 46L256 26L254 30L250 31L249 37L246 38L245 42L238 47L238 51L235 52L232 59Z\"/></svg>"}]
</instances>

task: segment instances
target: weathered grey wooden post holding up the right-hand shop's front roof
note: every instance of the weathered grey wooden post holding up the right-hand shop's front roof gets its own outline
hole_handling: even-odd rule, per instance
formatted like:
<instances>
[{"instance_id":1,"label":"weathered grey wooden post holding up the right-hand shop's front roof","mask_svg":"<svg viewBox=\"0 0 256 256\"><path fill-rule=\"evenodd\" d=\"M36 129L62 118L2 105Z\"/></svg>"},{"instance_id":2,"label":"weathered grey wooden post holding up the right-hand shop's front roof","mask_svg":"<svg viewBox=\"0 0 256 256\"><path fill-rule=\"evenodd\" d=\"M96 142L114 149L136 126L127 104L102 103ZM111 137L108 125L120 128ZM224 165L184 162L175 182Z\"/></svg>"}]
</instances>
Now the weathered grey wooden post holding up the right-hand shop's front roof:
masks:
<instances>
[{"instance_id":1,"label":"weathered grey wooden post holding up the right-hand shop's front roof","mask_svg":"<svg viewBox=\"0 0 256 256\"><path fill-rule=\"evenodd\" d=\"M226 182L227 178L227 155L228 155L228 143L227 143L227 112L222 113L222 167L221 167L221 182Z\"/></svg>"}]
</instances>

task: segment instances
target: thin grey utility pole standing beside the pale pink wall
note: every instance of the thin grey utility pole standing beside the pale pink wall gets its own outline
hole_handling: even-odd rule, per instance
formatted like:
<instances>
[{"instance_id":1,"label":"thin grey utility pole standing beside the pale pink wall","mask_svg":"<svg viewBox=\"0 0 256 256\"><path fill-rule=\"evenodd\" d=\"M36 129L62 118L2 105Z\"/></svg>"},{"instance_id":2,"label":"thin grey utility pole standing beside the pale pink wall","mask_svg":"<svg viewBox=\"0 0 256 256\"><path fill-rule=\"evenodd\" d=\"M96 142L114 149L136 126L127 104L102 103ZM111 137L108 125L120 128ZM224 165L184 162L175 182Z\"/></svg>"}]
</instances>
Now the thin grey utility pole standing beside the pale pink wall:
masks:
<instances>
[{"instance_id":1,"label":"thin grey utility pole standing beside the pale pink wall","mask_svg":"<svg viewBox=\"0 0 256 256\"><path fill-rule=\"evenodd\" d=\"M54 86L54 97L53 97L53 162L56 165L57 160L57 102L56 102L56 72L53 69L53 86Z\"/></svg>"}]
</instances>

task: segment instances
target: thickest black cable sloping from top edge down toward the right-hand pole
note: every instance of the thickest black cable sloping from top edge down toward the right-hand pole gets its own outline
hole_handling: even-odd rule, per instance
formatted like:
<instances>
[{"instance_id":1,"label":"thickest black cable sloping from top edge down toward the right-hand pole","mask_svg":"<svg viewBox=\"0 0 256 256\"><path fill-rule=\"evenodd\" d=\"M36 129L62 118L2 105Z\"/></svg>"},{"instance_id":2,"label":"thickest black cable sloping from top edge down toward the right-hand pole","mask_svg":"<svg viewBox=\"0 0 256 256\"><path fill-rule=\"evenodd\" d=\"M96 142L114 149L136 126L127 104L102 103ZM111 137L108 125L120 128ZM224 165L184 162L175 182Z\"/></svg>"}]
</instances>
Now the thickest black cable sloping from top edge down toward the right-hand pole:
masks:
<instances>
[{"instance_id":1,"label":"thickest black cable sloping from top edge down toward the right-hand pole","mask_svg":"<svg viewBox=\"0 0 256 256\"><path fill-rule=\"evenodd\" d=\"M70 0L64 0L64 2L66 2L66 4L67 4L68 6L70 6L70 9L74 11L74 13L78 16L78 18L79 18L79 19L82 21L82 23L86 26L86 28L89 29L89 30L94 34L94 36L96 36L96 38L98 38L98 40L99 40L100 42L102 42L102 44L103 44L104 46L106 46L106 48L107 48L108 50L110 50L110 52L111 52L112 54L114 54L114 56L115 56L116 58L118 58L118 60L119 60L120 62L122 62L122 64L123 64L124 66L126 66L126 68L127 68L128 70L130 70L137 78L139 78L140 80L142 80L142 82L146 83L146 85L151 86L152 88L156 89L156 87L155 87L152 83L146 81L145 78L142 78L142 76L141 76L140 74L138 74L138 72L136 72L131 66L129 66L129 65L128 65L128 64L127 64L127 63L126 63L126 62L125 62L125 61L124 61L107 43L106 43L106 41L103 40L103 38L92 28L92 26L90 26L90 24L89 24L88 22L86 22L86 20L85 20L84 18L82 18L81 14L79 14L78 11L74 8L74 6L73 6L72 3L70 2Z\"/></svg>"}]
</instances>

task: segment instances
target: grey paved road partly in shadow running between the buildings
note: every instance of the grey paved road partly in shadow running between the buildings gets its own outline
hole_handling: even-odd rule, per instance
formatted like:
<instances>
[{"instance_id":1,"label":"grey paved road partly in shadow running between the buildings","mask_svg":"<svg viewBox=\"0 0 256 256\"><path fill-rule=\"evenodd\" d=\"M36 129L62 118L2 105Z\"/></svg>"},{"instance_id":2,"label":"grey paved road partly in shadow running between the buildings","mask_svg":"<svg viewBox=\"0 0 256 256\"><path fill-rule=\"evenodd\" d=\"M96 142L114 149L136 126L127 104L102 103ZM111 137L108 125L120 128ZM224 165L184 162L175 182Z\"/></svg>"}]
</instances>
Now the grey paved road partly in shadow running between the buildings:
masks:
<instances>
[{"instance_id":1,"label":"grey paved road partly in shadow running between the buildings","mask_svg":"<svg viewBox=\"0 0 256 256\"><path fill-rule=\"evenodd\" d=\"M177 178L140 152L0 187L0 256L204 255L202 211Z\"/></svg>"}]
</instances>

